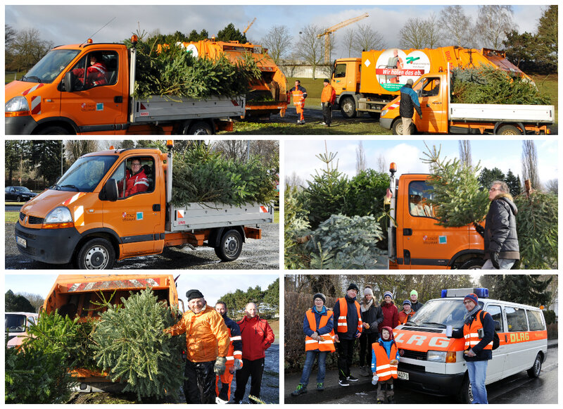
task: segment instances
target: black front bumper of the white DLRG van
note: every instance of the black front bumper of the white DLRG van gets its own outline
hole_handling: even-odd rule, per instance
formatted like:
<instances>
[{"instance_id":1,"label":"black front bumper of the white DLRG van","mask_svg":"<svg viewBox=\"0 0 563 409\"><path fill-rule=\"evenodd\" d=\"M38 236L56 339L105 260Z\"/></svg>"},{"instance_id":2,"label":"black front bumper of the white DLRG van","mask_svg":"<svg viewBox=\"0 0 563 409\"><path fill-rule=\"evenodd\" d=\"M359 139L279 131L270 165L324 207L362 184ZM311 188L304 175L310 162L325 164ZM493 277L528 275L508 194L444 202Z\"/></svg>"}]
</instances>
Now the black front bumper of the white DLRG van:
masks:
<instances>
[{"instance_id":1,"label":"black front bumper of the white DLRG van","mask_svg":"<svg viewBox=\"0 0 563 409\"><path fill-rule=\"evenodd\" d=\"M424 372L422 370L414 370L410 367L405 368L399 363L398 370L407 372L409 380L403 381L397 379L401 386L408 389L431 394L436 396L449 396L457 394L463 382L465 373L461 374L436 374L433 372Z\"/></svg>"}]
</instances>

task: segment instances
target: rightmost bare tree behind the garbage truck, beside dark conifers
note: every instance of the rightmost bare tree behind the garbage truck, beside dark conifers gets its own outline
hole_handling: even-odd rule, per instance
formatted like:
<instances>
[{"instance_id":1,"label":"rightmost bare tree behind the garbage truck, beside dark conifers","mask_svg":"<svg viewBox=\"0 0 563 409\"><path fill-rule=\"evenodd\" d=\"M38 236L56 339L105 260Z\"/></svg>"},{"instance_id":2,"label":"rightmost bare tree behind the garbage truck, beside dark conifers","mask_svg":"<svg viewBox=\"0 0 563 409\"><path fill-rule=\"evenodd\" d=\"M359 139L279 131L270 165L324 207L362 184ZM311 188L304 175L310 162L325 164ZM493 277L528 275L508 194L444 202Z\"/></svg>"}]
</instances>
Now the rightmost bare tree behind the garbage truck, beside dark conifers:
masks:
<instances>
[{"instance_id":1,"label":"rightmost bare tree behind the garbage truck, beside dark conifers","mask_svg":"<svg viewBox=\"0 0 563 409\"><path fill-rule=\"evenodd\" d=\"M518 28L512 20L513 14L512 6L479 6L475 32L481 37L481 45L493 49L502 47L505 33Z\"/></svg>"}]
</instances>

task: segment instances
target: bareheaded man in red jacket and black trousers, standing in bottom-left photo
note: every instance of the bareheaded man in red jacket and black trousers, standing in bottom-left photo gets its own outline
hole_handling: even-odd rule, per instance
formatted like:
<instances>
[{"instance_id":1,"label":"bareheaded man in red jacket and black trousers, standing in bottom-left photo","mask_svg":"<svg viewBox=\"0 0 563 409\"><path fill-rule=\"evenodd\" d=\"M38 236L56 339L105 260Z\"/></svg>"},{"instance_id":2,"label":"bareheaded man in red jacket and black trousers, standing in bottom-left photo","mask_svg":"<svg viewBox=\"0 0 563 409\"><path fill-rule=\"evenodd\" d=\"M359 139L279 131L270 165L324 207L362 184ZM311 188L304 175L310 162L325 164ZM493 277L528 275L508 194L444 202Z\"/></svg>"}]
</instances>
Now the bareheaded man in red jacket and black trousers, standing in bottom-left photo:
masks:
<instances>
[{"instance_id":1,"label":"bareheaded man in red jacket and black trousers, standing in bottom-left photo","mask_svg":"<svg viewBox=\"0 0 563 409\"><path fill-rule=\"evenodd\" d=\"M242 368L236 371L236 391L234 403L241 403L246 390L248 377L251 379L250 396L260 398L262 373L264 372L265 351L274 342L274 332L266 320L258 316L255 303L248 303L244 309L246 316L237 322L242 336ZM252 400L250 403L253 402Z\"/></svg>"}]
</instances>

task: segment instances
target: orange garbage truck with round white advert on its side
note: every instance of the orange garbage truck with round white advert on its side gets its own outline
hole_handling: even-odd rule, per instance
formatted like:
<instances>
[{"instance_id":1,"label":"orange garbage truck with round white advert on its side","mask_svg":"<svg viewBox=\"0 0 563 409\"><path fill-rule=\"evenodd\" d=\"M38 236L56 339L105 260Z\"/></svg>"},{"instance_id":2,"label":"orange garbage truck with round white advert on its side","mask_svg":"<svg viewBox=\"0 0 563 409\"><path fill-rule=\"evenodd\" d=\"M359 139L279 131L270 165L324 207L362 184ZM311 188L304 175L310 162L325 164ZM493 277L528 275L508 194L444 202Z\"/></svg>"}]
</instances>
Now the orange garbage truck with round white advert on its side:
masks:
<instances>
[{"instance_id":1,"label":"orange garbage truck with round white advert on its side","mask_svg":"<svg viewBox=\"0 0 563 409\"><path fill-rule=\"evenodd\" d=\"M464 49L459 46L436 49L386 49L362 52L362 58L334 61L331 85L336 103L345 118L358 113L377 117L387 103L398 96L407 80L452 68L477 68L481 65L505 70L531 80L506 59L504 51Z\"/></svg>"}]
</instances>

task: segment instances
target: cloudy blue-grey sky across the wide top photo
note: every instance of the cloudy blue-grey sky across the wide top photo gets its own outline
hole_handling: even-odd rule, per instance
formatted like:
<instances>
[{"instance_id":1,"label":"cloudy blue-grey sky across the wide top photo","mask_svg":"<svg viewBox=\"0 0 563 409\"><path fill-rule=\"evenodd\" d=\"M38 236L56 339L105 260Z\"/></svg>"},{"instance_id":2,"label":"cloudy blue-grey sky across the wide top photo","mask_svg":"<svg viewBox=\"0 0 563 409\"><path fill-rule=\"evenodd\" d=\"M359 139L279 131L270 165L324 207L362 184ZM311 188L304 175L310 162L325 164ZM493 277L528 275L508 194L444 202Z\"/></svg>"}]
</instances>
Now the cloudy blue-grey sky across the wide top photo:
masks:
<instances>
[{"instance_id":1,"label":"cloudy blue-grey sky across the wide top photo","mask_svg":"<svg viewBox=\"0 0 563 409\"><path fill-rule=\"evenodd\" d=\"M13 2L13 1L11 1ZM37 2L36 2L37 3ZM55 44L74 44L85 41L106 25L94 36L94 42L121 42L129 38L138 27L146 32L159 29L168 34L179 30L189 33L191 30L200 32L205 29L210 35L216 34L229 23L243 31L253 18L255 23L247 32L247 38L259 43L274 25L286 25L290 34L296 39L299 32L309 24L318 27L331 27L348 18L369 13L369 18L358 24L369 24L379 31L386 39L386 48L398 46L398 33L408 18L427 18L430 13L438 15L443 6L394 5L375 6L358 4L335 6L327 2L318 5L284 4L283 6L232 5L230 2L219 2L228 6L78 6L76 3L66 6L21 6L5 7L6 24L17 29L37 28L44 39ZM293 2L295 3L295 2ZM538 18L544 6L514 6L514 22L520 32L534 32ZM476 17L477 6L464 6L467 15ZM80 22L80 23L78 23ZM336 32L336 42L343 37L346 30ZM348 57L348 51L337 49L333 58Z\"/></svg>"}]
</instances>

